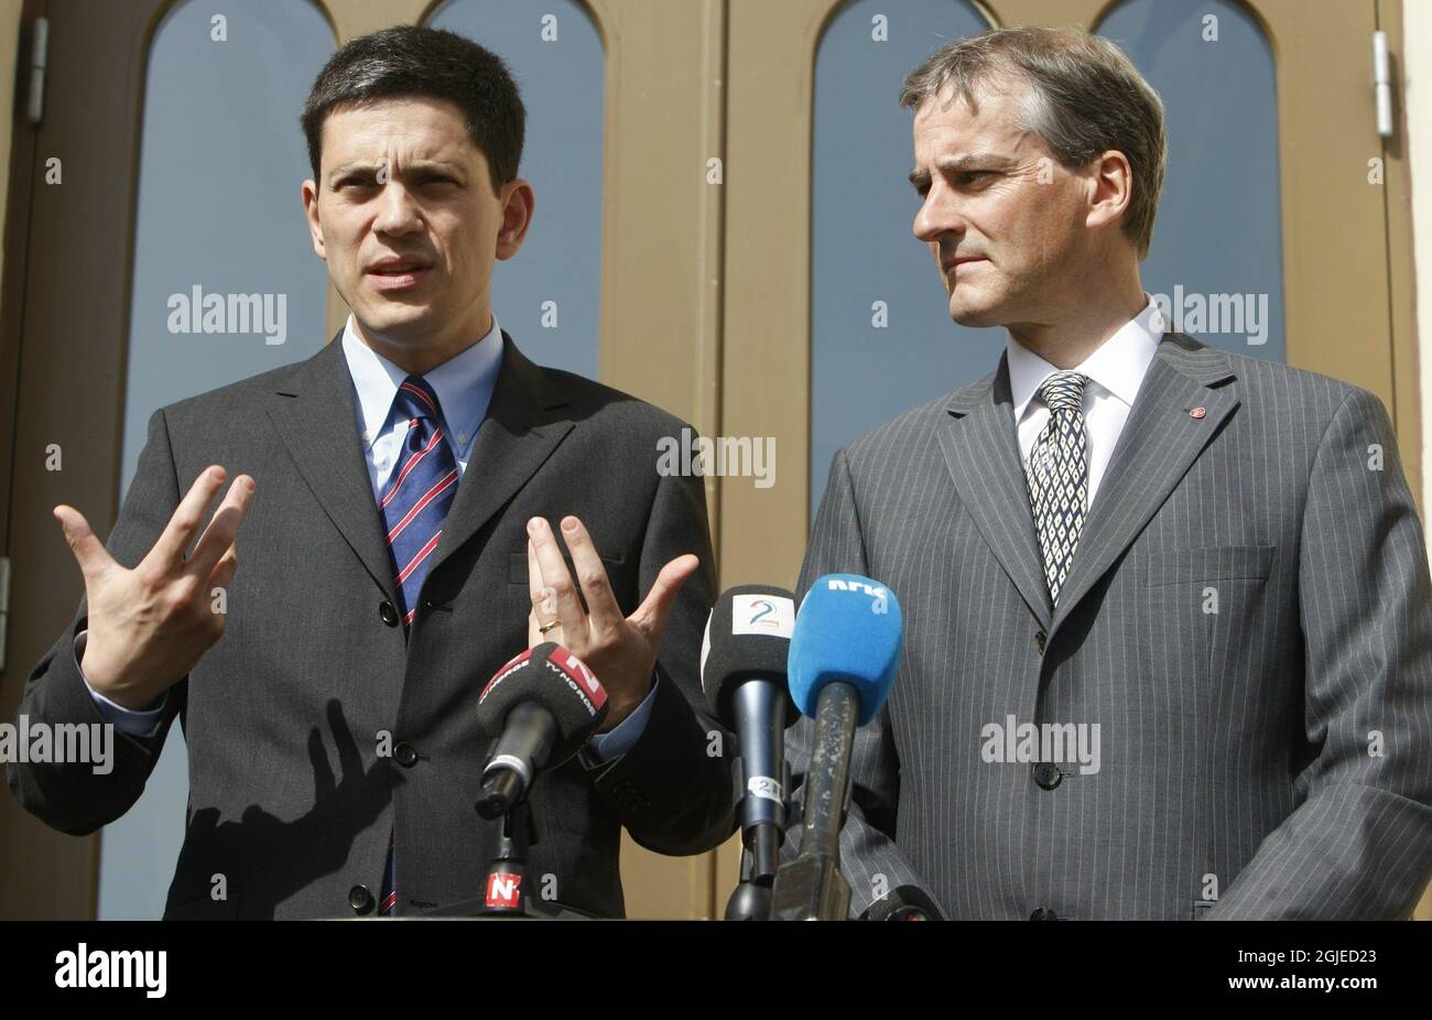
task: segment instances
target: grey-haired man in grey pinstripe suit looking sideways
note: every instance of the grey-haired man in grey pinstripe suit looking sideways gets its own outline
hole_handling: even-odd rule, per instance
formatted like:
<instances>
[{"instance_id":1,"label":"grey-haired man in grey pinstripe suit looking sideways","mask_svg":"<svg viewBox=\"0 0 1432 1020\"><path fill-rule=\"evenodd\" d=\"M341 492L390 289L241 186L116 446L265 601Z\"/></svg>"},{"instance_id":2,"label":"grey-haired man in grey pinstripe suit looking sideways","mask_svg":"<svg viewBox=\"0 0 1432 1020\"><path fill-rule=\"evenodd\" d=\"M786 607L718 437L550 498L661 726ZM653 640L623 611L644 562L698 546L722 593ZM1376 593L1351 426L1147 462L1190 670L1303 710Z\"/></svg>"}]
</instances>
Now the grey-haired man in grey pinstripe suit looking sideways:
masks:
<instances>
[{"instance_id":1,"label":"grey-haired man in grey pinstripe suit looking sideways","mask_svg":"<svg viewBox=\"0 0 1432 1020\"><path fill-rule=\"evenodd\" d=\"M1432 586L1383 405L1166 331L1138 279L1161 103L1113 44L958 40L901 102L951 318L1008 342L836 454L800 573L905 610L856 741L855 910L916 885L958 918L1406 917Z\"/></svg>"}]
</instances>

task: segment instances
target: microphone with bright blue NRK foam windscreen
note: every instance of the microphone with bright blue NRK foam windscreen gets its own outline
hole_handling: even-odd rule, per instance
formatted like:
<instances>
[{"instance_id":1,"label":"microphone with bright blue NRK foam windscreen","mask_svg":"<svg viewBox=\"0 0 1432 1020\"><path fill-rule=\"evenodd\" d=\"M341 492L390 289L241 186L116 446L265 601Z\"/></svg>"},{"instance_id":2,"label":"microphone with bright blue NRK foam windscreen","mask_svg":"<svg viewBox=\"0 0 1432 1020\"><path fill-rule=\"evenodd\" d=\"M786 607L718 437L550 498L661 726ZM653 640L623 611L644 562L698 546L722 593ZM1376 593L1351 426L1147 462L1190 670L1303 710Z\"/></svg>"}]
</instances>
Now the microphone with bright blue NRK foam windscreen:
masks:
<instances>
[{"instance_id":1,"label":"microphone with bright blue NRK foam windscreen","mask_svg":"<svg viewBox=\"0 0 1432 1020\"><path fill-rule=\"evenodd\" d=\"M905 619L895 593L859 574L818 577L796 613L790 698L815 719L805 781L800 852L776 871L772 915L843 921L851 887L841 874L841 827L851 797L855 728L874 719L899 669Z\"/></svg>"}]
</instances>

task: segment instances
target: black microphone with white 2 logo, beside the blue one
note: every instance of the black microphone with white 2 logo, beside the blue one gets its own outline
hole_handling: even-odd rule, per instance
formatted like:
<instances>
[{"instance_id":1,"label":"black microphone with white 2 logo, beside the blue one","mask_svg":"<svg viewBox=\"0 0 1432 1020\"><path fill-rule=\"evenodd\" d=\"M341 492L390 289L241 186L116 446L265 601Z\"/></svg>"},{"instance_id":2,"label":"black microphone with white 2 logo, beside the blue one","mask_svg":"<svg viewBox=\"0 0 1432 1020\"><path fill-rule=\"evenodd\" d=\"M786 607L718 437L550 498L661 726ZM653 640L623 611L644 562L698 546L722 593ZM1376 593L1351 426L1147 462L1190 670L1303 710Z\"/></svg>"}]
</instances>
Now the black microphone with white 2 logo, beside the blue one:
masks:
<instances>
[{"instance_id":1,"label":"black microphone with white 2 logo, beside the blue one","mask_svg":"<svg viewBox=\"0 0 1432 1020\"><path fill-rule=\"evenodd\" d=\"M765 920L786 828L785 731L800 718L786 695L795 596L783 587L740 584L712 607L702 638L702 691L720 723L740 741L742 881L726 920Z\"/></svg>"}]
</instances>

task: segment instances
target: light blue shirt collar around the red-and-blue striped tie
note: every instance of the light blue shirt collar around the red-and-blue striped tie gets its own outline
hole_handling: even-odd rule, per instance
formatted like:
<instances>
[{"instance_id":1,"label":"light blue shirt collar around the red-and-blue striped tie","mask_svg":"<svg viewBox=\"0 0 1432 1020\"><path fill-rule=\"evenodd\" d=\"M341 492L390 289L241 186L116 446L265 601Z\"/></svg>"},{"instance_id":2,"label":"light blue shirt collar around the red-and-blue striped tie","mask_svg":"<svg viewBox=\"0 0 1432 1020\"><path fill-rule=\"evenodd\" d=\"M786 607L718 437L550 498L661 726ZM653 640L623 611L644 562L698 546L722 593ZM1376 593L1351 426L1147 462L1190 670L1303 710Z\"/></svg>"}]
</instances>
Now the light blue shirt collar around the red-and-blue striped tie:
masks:
<instances>
[{"instance_id":1,"label":"light blue shirt collar around the red-and-blue striped tie","mask_svg":"<svg viewBox=\"0 0 1432 1020\"><path fill-rule=\"evenodd\" d=\"M352 375L354 390L358 393L364 448L372 448L388 424L398 384L408 378L408 372L358 338L351 314L344 325L342 344L348 374ZM473 443L477 427L487 415L501 365L503 329L497 325L494 314L493 328L485 337L422 377L438 395L438 405L447 420L444 424L460 451ZM464 436L465 440L461 438Z\"/></svg>"}]
</instances>

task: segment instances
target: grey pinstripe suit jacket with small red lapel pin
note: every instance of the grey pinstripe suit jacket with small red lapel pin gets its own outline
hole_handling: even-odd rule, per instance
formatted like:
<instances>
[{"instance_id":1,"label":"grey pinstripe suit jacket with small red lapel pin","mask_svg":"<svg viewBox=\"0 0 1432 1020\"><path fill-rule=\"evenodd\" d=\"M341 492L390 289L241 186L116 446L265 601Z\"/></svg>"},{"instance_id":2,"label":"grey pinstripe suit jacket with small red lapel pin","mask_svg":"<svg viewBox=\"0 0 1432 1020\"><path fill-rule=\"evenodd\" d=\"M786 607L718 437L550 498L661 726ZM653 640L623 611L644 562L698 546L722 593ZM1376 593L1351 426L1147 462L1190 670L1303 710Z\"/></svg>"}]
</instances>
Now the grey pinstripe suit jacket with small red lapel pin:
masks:
<instances>
[{"instance_id":1,"label":"grey pinstripe suit jacket with small red lapel pin","mask_svg":"<svg viewBox=\"0 0 1432 1020\"><path fill-rule=\"evenodd\" d=\"M798 596L838 570L905 612L855 910L1395 918L1432 875L1428 559L1372 394L1164 335L1055 609L1001 357L836 454ZM987 761L1008 716L1098 723L1100 769Z\"/></svg>"}]
</instances>

